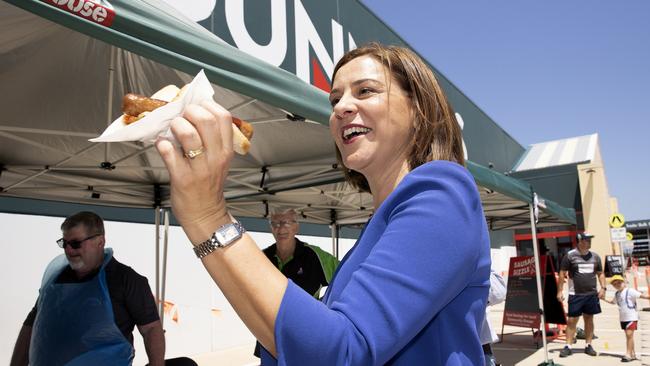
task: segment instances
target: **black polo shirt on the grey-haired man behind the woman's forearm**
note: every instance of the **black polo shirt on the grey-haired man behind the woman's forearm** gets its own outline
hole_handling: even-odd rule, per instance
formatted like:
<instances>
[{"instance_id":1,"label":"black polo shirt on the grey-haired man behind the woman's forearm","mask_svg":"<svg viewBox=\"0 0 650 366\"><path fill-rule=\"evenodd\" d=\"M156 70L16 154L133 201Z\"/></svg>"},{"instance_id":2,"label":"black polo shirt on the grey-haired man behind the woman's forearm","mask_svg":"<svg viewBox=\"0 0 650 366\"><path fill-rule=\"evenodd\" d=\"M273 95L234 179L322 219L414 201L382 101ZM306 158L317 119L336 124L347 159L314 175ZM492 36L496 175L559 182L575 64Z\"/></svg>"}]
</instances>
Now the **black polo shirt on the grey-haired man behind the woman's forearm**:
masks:
<instances>
[{"instance_id":1,"label":"black polo shirt on the grey-haired man behind the woman's forearm","mask_svg":"<svg viewBox=\"0 0 650 366\"><path fill-rule=\"evenodd\" d=\"M321 286L327 286L327 279L323 273L323 267L318 259L318 254L310 249L307 244L296 238L296 249L293 257L283 265L276 256L277 244L264 249L264 254L282 272L285 277L292 280L310 295L318 296L317 292Z\"/></svg>"}]
</instances>

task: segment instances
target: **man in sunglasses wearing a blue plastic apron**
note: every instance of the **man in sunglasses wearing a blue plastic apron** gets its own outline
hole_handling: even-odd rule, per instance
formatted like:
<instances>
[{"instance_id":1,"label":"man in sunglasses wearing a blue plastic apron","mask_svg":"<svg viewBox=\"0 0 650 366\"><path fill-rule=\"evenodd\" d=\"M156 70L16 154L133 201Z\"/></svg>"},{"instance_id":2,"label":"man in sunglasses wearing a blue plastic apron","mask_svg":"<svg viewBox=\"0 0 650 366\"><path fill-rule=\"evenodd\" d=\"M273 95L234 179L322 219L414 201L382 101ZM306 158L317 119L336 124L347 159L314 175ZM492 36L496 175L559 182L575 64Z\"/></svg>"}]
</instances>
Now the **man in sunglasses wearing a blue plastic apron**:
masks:
<instances>
[{"instance_id":1,"label":"man in sunglasses wearing a blue plastic apron","mask_svg":"<svg viewBox=\"0 0 650 366\"><path fill-rule=\"evenodd\" d=\"M165 338L147 279L104 248L103 220L79 212L61 225L64 254L43 275L11 365L130 365L133 328L150 365L163 365Z\"/></svg>"}]
</instances>

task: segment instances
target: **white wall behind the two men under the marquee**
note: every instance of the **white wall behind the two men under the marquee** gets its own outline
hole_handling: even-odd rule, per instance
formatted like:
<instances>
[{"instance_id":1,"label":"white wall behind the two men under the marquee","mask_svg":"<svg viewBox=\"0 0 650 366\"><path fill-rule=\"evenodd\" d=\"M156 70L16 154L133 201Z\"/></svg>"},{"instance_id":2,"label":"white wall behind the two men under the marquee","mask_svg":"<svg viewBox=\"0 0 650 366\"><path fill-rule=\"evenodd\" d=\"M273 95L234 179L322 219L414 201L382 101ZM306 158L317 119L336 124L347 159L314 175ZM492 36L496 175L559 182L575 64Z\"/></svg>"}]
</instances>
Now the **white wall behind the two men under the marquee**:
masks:
<instances>
[{"instance_id":1,"label":"white wall behind the two men under the marquee","mask_svg":"<svg viewBox=\"0 0 650 366\"><path fill-rule=\"evenodd\" d=\"M0 278L3 305L0 308L0 364L9 364L18 331L38 296L42 271L62 250L54 242L61 235L63 218L0 213L3 233L3 255ZM169 231L165 314L167 357L193 356L239 347L249 347L252 354L254 338L241 322L225 297L214 285L180 227ZM154 290L155 226L106 222L107 246L115 258L147 277ZM261 247L273 242L268 233L253 232ZM302 240L318 245L331 253L329 238L300 235ZM353 240L342 239L341 255ZM173 306L171 305L173 304ZM177 317L177 321L174 321ZM146 353L137 329L134 331L136 359L134 365L146 363Z\"/></svg>"}]
</instances>

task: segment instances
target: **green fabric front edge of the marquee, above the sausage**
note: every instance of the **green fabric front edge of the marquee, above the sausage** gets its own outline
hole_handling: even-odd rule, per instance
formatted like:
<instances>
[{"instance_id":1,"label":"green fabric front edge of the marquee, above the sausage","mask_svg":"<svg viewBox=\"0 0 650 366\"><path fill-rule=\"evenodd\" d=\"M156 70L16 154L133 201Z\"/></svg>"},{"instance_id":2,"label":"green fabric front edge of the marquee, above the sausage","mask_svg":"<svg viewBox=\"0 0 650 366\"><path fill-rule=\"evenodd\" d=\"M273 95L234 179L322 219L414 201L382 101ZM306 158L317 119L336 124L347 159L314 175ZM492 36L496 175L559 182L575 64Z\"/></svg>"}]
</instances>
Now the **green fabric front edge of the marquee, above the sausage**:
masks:
<instances>
[{"instance_id":1,"label":"green fabric front edge of the marquee, above the sausage","mask_svg":"<svg viewBox=\"0 0 650 366\"><path fill-rule=\"evenodd\" d=\"M110 27L40 0L5 0L45 19L190 75L204 69L224 88L327 123L327 94L294 74L228 45L161 1L111 0Z\"/></svg>"}]
</instances>

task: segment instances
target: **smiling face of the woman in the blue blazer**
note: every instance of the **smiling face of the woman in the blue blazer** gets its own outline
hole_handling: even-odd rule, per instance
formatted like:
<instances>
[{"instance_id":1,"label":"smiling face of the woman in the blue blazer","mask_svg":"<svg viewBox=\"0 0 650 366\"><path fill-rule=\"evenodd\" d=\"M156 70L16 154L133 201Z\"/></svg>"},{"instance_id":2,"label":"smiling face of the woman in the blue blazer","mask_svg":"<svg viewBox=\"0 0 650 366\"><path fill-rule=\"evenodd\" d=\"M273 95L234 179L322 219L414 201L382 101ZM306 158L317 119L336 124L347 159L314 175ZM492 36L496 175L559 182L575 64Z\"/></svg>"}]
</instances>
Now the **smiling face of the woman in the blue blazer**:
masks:
<instances>
[{"instance_id":1,"label":"smiling face of the woman in the blue blazer","mask_svg":"<svg viewBox=\"0 0 650 366\"><path fill-rule=\"evenodd\" d=\"M360 56L343 65L330 102L330 131L347 168L368 178L407 161L411 101L377 59Z\"/></svg>"}]
</instances>

